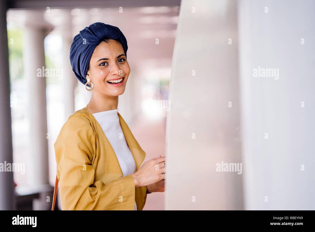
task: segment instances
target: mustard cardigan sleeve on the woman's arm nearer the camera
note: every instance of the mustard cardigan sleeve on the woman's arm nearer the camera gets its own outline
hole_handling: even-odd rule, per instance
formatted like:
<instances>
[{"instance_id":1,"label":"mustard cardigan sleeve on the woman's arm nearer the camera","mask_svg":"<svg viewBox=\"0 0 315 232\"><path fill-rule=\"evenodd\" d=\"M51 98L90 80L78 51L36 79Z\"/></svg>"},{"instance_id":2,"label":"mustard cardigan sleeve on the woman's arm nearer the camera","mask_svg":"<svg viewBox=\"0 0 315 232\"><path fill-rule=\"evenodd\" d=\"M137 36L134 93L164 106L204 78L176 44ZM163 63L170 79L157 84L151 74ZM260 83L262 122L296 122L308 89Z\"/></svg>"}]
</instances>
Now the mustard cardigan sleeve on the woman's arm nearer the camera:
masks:
<instances>
[{"instance_id":1,"label":"mustard cardigan sleeve on the woman's arm nearer the camera","mask_svg":"<svg viewBox=\"0 0 315 232\"><path fill-rule=\"evenodd\" d=\"M62 210L132 210L135 181L126 175L95 181L95 131L87 118L70 117L54 144ZM100 165L100 164L99 164Z\"/></svg>"}]
</instances>

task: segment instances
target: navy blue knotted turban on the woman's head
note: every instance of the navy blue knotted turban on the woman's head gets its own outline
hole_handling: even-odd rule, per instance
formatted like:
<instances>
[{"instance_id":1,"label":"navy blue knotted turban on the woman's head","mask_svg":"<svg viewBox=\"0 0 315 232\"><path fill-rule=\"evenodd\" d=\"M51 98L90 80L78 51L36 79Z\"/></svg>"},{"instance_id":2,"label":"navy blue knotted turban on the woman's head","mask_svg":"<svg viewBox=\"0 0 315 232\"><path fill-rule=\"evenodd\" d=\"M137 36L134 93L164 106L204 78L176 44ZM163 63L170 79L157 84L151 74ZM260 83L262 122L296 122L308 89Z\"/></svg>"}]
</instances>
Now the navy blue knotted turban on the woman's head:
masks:
<instances>
[{"instance_id":1,"label":"navy blue knotted turban on the woman's head","mask_svg":"<svg viewBox=\"0 0 315 232\"><path fill-rule=\"evenodd\" d=\"M70 63L77 79L84 85L87 82L85 77L93 51L104 39L119 41L127 57L127 40L118 27L96 22L85 27L73 39L70 47Z\"/></svg>"}]
</instances>

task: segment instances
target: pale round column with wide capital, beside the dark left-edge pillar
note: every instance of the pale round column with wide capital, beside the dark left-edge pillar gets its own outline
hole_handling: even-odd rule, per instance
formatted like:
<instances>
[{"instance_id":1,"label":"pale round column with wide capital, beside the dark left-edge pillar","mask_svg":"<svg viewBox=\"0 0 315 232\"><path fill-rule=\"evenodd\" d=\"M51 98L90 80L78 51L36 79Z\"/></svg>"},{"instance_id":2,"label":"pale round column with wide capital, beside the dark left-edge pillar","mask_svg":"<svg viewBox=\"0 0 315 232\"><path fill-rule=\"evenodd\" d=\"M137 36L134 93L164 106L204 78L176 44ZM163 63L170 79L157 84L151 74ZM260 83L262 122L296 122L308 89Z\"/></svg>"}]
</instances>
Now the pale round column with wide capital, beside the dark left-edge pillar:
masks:
<instances>
[{"instance_id":1,"label":"pale round column with wide capital, beside the dark left-edge pillar","mask_svg":"<svg viewBox=\"0 0 315 232\"><path fill-rule=\"evenodd\" d=\"M28 117L30 122L29 162L26 165L28 185L41 196L33 203L34 210L47 210L51 207L46 202L47 193L51 191L48 173L48 141L46 111L45 73L37 76L39 69L45 66L44 38L52 26L43 20L43 11L25 11L24 31L24 74L28 83Z\"/></svg>"}]
</instances>

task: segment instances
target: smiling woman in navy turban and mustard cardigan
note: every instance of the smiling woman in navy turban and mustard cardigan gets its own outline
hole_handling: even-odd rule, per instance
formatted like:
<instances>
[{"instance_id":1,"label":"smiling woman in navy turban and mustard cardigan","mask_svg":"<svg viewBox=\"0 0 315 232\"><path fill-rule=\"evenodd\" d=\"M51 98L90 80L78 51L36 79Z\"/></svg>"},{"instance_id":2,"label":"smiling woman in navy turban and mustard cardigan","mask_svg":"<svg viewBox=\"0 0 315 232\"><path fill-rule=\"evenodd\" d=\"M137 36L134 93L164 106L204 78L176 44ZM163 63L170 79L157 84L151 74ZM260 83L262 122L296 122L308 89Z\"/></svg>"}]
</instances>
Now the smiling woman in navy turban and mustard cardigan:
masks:
<instances>
[{"instance_id":1,"label":"smiling woman in navy turban and mustard cardigan","mask_svg":"<svg viewBox=\"0 0 315 232\"><path fill-rule=\"evenodd\" d=\"M147 193L164 191L165 157L140 167L146 153L118 113L130 73L127 49L119 28L100 22L73 39L72 70L92 97L54 144L62 210L142 210Z\"/></svg>"}]
</instances>

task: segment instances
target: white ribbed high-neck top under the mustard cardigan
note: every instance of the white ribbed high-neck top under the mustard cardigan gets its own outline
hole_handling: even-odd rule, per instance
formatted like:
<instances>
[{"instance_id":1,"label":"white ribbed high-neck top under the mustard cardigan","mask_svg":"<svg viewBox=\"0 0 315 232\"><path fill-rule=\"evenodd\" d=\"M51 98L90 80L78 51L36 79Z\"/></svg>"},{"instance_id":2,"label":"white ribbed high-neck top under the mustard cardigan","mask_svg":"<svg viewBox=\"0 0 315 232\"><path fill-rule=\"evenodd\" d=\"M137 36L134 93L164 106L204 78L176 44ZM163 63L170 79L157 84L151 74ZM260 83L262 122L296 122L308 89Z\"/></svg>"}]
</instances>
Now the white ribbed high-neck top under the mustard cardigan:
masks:
<instances>
[{"instance_id":1,"label":"white ribbed high-neck top under the mustard cardigan","mask_svg":"<svg viewBox=\"0 0 315 232\"><path fill-rule=\"evenodd\" d=\"M93 114L93 116L102 127L106 138L112 145L120 168L123 171L123 176L135 173L137 171L135 159L132 156L120 126L118 109L98 112ZM135 210L137 210L136 202Z\"/></svg>"}]
</instances>

